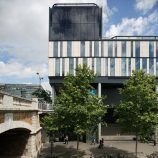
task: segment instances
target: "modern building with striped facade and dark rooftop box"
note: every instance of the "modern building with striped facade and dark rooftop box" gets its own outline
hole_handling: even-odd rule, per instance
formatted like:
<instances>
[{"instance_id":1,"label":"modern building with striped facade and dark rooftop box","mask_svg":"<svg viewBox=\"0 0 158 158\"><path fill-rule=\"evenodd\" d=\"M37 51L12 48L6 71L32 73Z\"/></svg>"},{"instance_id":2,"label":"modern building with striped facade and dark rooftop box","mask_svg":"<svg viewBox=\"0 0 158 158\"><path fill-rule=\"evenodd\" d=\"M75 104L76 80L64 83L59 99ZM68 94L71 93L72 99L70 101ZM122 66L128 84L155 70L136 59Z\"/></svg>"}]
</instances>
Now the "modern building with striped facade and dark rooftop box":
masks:
<instances>
[{"instance_id":1,"label":"modern building with striped facade and dark rooftop box","mask_svg":"<svg viewBox=\"0 0 158 158\"><path fill-rule=\"evenodd\" d=\"M97 74L93 83L98 95L109 104L99 136L112 139L121 131L115 122L113 104L120 100L118 88L132 70L143 69L158 77L157 36L102 38L102 9L96 4L55 4L49 12L49 82L58 93L67 73L75 75L78 64L87 64ZM111 138L110 135L113 135Z\"/></svg>"}]
</instances>

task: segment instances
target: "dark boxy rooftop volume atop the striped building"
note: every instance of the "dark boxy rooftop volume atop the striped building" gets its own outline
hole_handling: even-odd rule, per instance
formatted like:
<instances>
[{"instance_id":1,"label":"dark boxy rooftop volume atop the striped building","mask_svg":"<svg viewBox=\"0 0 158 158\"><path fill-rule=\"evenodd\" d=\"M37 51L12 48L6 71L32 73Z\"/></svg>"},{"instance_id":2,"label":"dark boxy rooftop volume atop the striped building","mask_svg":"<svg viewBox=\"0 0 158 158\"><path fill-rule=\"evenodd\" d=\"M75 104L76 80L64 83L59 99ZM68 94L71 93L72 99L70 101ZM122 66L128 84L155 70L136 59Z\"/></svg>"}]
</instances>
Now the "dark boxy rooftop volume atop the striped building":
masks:
<instances>
[{"instance_id":1,"label":"dark boxy rooftop volume atop the striped building","mask_svg":"<svg viewBox=\"0 0 158 158\"><path fill-rule=\"evenodd\" d=\"M49 8L49 41L101 39L102 9L97 5Z\"/></svg>"}]
</instances>

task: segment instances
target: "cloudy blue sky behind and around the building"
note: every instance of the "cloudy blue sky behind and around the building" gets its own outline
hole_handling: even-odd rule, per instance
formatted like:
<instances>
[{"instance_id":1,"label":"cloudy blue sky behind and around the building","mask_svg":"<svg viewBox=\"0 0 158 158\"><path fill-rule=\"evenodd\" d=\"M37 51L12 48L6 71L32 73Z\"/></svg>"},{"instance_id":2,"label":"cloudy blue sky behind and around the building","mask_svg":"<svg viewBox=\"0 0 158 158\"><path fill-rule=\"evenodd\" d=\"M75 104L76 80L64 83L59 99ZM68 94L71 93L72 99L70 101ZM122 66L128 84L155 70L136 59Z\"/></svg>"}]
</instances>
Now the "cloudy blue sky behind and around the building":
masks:
<instances>
[{"instance_id":1,"label":"cloudy blue sky behind and around the building","mask_svg":"<svg viewBox=\"0 0 158 158\"><path fill-rule=\"evenodd\" d=\"M0 83L48 80L48 15L54 3L96 3L103 8L103 37L158 36L158 0L0 0Z\"/></svg>"}]
</instances>

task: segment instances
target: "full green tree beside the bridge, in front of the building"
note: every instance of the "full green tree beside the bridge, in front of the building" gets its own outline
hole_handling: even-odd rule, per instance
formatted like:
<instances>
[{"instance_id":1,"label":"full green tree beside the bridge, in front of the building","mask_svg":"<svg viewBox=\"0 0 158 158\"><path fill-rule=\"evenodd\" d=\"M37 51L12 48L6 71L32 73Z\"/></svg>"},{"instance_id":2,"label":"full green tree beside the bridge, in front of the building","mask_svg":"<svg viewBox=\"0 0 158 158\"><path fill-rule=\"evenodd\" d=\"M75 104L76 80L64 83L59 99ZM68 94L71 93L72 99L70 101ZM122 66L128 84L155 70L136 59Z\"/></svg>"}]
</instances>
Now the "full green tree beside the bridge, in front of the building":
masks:
<instances>
[{"instance_id":1,"label":"full green tree beside the bridge, in front of the building","mask_svg":"<svg viewBox=\"0 0 158 158\"><path fill-rule=\"evenodd\" d=\"M106 112L102 98L90 94L93 89L90 83L94 79L94 72L86 65L78 66L75 76L68 74L65 77L54 103L55 124L58 130L71 130L77 135L77 150L79 137L96 126Z\"/></svg>"}]
</instances>

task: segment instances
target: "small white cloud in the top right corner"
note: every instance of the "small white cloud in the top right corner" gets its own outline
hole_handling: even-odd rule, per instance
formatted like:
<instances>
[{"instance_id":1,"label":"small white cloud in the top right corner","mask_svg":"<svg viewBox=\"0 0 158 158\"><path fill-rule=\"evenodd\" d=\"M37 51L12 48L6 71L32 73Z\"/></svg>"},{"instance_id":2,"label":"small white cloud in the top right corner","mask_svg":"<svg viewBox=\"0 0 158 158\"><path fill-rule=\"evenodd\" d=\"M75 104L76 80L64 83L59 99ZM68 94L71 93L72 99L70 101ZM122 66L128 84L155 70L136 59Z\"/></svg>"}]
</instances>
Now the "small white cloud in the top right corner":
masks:
<instances>
[{"instance_id":1,"label":"small white cloud in the top right corner","mask_svg":"<svg viewBox=\"0 0 158 158\"><path fill-rule=\"evenodd\" d=\"M158 0L136 0L135 8L145 14L151 10L157 2Z\"/></svg>"}]
</instances>

